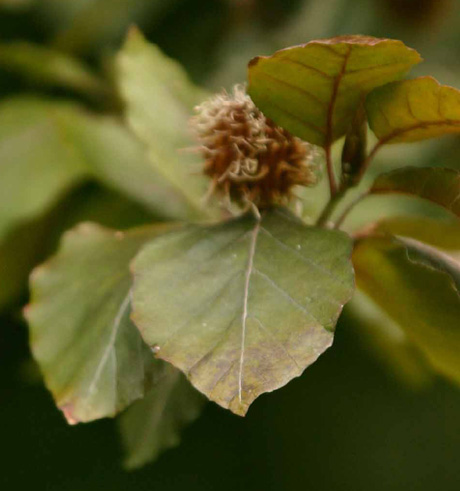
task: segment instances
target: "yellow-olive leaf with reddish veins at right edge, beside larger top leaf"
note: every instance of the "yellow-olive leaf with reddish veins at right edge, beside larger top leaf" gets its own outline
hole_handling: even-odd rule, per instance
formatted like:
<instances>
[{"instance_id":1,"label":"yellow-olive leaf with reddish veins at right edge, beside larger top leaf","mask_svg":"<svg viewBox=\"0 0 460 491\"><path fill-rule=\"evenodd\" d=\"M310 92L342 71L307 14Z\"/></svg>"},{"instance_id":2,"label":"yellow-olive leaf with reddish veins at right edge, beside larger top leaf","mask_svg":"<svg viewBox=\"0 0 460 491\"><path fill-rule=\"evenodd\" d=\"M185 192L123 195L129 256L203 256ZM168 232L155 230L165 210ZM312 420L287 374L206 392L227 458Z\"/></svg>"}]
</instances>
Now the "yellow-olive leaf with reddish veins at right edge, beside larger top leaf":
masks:
<instances>
[{"instance_id":1,"label":"yellow-olive leaf with reddish veins at right edge, beside larger top leaf","mask_svg":"<svg viewBox=\"0 0 460 491\"><path fill-rule=\"evenodd\" d=\"M433 77L381 87L369 94L366 109L380 144L460 133L460 91Z\"/></svg>"}]
</instances>

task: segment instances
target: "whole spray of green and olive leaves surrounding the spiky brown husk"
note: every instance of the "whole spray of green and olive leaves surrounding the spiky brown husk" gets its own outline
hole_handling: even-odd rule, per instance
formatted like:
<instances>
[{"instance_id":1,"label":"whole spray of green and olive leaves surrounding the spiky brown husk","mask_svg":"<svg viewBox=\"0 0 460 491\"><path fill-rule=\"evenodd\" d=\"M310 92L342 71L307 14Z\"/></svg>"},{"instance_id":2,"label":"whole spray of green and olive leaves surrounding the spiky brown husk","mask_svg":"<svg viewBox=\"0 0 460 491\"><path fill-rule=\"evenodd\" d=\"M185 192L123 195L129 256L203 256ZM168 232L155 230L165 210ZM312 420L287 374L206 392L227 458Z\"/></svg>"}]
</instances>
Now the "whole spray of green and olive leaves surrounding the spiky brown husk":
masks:
<instances>
[{"instance_id":1,"label":"whole spray of green and olive leaves surrounding the spiky brown husk","mask_svg":"<svg viewBox=\"0 0 460 491\"><path fill-rule=\"evenodd\" d=\"M216 223L217 212L200 206L206 183L190 176L196 161L178 149L189 145L187 120L206 94L137 31L116 57L115 88L58 52L22 44L0 59L45 83L124 106L120 120L42 98L2 103L3 257L19 242L42 242L53 207L90 179L170 222L125 232L79 225L31 279L26 316L46 385L70 423L129 407L120 417L128 465L177 442L203 405L192 385L243 415L260 394L299 376L332 344L353 295L353 270L358 288L403 333L402 349L415 345L436 371L460 380L459 270L445 252L460 243L458 173L403 168L353 201L404 193L457 215L450 221L401 218L352 235L337 230L349 211L339 210L342 198L382 146L460 132L458 91L431 78L397 81L420 61L415 51L354 36L250 63L249 93L259 108L325 150L331 199L316 226L282 208L261 220ZM377 137L371 151L366 120ZM344 136L338 183L332 145ZM36 255L31 247L20 264L2 262L0 276L17 282L0 290L2 301L19 290Z\"/></svg>"}]
</instances>

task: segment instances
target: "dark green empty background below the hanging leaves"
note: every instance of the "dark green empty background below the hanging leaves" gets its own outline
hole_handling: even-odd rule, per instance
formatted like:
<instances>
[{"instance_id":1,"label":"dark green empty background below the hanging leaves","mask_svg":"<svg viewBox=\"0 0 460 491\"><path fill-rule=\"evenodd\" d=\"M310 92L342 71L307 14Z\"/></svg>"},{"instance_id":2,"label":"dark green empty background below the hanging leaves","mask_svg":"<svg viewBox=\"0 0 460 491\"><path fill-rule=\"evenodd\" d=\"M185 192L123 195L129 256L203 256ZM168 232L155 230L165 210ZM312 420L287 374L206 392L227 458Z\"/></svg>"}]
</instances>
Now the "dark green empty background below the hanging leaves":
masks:
<instances>
[{"instance_id":1,"label":"dark green empty background below the hanging leaves","mask_svg":"<svg viewBox=\"0 0 460 491\"><path fill-rule=\"evenodd\" d=\"M441 380L408 390L345 322L333 348L245 419L209 403L180 447L132 473L120 468L114 424L67 426L46 390L24 379L25 327L7 318L2 326L2 489L459 488L460 392Z\"/></svg>"}]
</instances>

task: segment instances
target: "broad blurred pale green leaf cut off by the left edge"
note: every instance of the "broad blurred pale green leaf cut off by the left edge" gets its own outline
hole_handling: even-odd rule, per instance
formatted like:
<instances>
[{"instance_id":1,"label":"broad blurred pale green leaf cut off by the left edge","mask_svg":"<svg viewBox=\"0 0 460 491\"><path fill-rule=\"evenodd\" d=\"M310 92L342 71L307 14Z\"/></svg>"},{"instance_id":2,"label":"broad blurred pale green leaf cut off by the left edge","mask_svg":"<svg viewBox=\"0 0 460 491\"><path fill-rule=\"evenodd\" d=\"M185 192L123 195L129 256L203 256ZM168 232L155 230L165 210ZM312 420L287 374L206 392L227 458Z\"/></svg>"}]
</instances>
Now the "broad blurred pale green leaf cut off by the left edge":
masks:
<instances>
[{"instance_id":1,"label":"broad blurred pale green leaf cut off by the left edge","mask_svg":"<svg viewBox=\"0 0 460 491\"><path fill-rule=\"evenodd\" d=\"M89 176L65 131L64 121L73 111L70 104L28 97L0 104L0 240Z\"/></svg>"}]
</instances>

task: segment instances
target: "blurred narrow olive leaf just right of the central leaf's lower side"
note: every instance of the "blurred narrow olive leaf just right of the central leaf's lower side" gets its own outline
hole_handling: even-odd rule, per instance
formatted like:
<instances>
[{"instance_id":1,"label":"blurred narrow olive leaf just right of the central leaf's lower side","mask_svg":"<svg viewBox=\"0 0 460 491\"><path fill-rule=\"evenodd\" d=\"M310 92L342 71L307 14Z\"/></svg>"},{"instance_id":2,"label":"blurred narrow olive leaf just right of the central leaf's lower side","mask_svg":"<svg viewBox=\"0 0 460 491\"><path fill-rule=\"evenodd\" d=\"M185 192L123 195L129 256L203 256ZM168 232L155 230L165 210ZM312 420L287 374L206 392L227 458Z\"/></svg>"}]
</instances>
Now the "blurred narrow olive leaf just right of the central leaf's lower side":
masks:
<instances>
[{"instance_id":1,"label":"blurred narrow olive leaf just right of the central leaf's lower side","mask_svg":"<svg viewBox=\"0 0 460 491\"><path fill-rule=\"evenodd\" d=\"M432 369L422 353L399 325L377 307L362 291L356 290L344 315L357 339L401 382L414 388L426 387Z\"/></svg>"}]
</instances>

